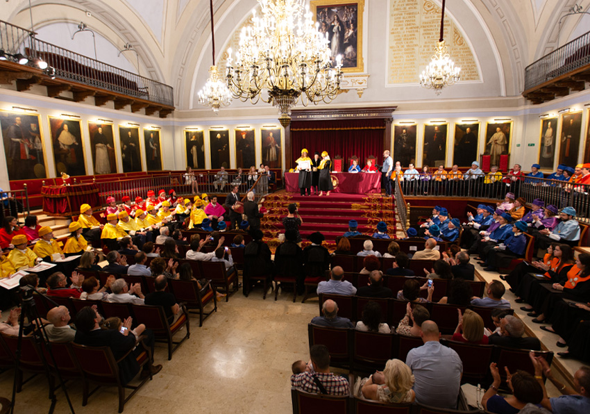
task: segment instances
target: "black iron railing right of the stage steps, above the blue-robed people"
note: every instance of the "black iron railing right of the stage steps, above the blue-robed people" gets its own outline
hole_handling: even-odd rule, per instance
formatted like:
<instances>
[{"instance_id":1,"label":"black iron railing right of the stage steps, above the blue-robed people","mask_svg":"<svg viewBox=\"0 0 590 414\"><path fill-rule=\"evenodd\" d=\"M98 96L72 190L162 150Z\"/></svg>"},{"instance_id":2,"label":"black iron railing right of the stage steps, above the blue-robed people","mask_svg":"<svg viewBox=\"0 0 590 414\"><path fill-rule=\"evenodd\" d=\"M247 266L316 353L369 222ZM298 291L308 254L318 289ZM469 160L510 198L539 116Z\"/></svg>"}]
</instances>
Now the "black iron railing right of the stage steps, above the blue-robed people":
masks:
<instances>
[{"instance_id":1,"label":"black iron railing right of the stage steps, above the blue-robed people","mask_svg":"<svg viewBox=\"0 0 590 414\"><path fill-rule=\"evenodd\" d=\"M506 181L506 182L504 182ZM557 208L573 207L577 213L577 220L590 224L590 185L573 184L567 181L520 177L511 179L491 180L491 176L473 175L469 178L436 181L432 174L405 174L403 181L398 183L403 196L422 197L455 197L469 199L501 200L508 192L516 198L523 197L527 204L534 199L541 199L546 205L552 204ZM396 206L398 215L402 217L403 208L398 200L398 185L396 185ZM405 204L403 204L405 205Z\"/></svg>"}]
</instances>

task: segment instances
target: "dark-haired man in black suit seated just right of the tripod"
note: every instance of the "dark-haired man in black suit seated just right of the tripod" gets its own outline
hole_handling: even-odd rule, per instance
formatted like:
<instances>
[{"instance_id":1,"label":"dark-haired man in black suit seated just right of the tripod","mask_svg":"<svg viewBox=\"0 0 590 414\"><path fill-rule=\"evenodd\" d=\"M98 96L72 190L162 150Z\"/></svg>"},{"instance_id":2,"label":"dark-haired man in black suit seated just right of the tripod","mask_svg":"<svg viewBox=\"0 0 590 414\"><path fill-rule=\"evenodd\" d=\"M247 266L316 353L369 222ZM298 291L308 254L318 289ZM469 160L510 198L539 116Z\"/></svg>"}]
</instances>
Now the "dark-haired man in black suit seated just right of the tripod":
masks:
<instances>
[{"instance_id":1,"label":"dark-haired man in black suit seated just right of the tripod","mask_svg":"<svg viewBox=\"0 0 590 414\"><path fill-rule=\"evenodd\" d=\"M126 329L124 333L121 333L118 326L115 329L101 329L99 325L100 320L101 316L96 311L96 307L85 306L82 308L76 315L76 337L74 338L74 342L76 344L86 345L87 347L110 347L112 355L115 356L116 360L119 360L130 349L135 347L136 338L144 335L146 336L144 345L151 347L153 354L153 332L145 329L144 324L136 326L132 331L132 320L128 317L123 324L123 327ZM139 372L140 366L137 363L136 357L143 350L143 347L137 347L123 361L119 362L119 375L121 376L122 383L128 383ZM162 365L152 365L151 358L149 358L146 365L144 365L142 377L145 378L149 374L157 374L160 370L162 370Z\"/></svg>"}]
</instances>

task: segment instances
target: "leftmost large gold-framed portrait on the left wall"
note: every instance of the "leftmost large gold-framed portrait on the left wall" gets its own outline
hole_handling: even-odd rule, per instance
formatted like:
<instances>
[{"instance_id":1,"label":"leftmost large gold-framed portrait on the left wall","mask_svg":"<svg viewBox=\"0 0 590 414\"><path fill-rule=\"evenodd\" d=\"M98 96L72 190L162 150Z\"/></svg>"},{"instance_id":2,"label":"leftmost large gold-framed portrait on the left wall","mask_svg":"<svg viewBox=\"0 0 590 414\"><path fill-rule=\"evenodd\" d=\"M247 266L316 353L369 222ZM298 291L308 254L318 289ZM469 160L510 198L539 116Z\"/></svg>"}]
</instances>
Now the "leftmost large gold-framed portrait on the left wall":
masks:
<instances>
[{"instance_id":1,"label":"leftmost large gold-framed portrait on the left wall","mask_svg":"<svg viewBox=\"0 0 590 414\"><path fill-rule=\"evenodd\" d=\"M28 158L26 161L32 164L30 167L22 165L22 156L19 155L18 162L12 163L12 159L10 158L11 154L11 145L10 145L10 138L8 137L8 129L12 124L15 124L15 120L17 118L21 118L21 125L26 126L28 124L28 135L30 135L29 140L33 140L31 142L31 147L29 148ZM35 122L31 122L35 120ZM37 131L33 131L33 124L36 125ZM23 131L24 132L24 131ZM3 145L4 145L4 156L6 159L6 168L8 170L8 179L12 180L32 180L32 179L45 179L49 176L49 171L47 169L47 148L45 147L45 140L44 134L41 129L41 115L37 113L24 113L15 110L4 110L0 109L0 135L2 135ZM41 146L39 147L38 142L35 144L36 136L40 140ZM31 149L33 149L33 157L31 158ZM39 154L39 149L42 151L42 154ZM21 152L20 149L14 149L13 151ZM26 149L25 149L26 151ZM16 155L16 154L15 154ZM25 155L26 156L26 155ZM43 163L33 163L35 160L42 160ZM10 161L10 162L9 162ZM28 174L27 174L28 173Z\"/></svg>"}]
</instances>

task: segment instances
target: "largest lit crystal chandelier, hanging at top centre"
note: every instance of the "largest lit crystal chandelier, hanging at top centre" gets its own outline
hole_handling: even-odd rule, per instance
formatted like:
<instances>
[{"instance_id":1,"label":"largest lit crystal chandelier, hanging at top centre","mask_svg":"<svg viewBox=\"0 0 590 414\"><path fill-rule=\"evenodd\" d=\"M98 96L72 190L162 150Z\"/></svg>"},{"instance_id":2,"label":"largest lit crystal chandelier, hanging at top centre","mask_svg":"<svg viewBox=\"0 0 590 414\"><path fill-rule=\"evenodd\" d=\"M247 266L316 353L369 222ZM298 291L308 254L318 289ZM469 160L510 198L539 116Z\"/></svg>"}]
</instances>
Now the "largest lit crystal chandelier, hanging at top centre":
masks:
<instances>
[{"instance_id":1,"label":"largest lit crystal chandelier, hanging at top centre","mask_svg":"<svg viewBox=\"0 0 590 414\"><path fill-rule=\"evenodd\" d=\"M303 0L258 2L262 17L254 14L253 26L242 28L235 62L228 49L227 85L236 99L278 107L287 126L300 98L307 106L337 96L342 56L331 56L327 34L319 33L309 6L303 13Z\"/></svg>"}]
</instances>

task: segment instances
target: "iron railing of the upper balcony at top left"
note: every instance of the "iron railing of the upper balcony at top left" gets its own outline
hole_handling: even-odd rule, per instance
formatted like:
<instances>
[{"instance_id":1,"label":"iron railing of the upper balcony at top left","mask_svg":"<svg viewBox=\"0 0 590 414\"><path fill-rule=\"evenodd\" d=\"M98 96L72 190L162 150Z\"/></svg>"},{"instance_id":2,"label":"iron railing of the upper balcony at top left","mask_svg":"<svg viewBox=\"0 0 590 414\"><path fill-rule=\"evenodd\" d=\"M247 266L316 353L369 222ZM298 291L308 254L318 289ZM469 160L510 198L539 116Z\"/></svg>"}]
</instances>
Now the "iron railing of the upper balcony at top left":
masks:
<instances>
[{"instance_id":1,"label":"iron railing of the upper balcony at top left","mask_svg":"<svg viewBox=\"0 0 590 414\"><path fill-rule=\"evenodd\" d=\"M55 70L56 78L83 83L130 98L144 99L165 106L174 106L172 87L69 51L35 38L35 33L0 20L0 49L7 60L18 59L19 53L35 66L42 59Z\"/></svg>"}]
</instances>

